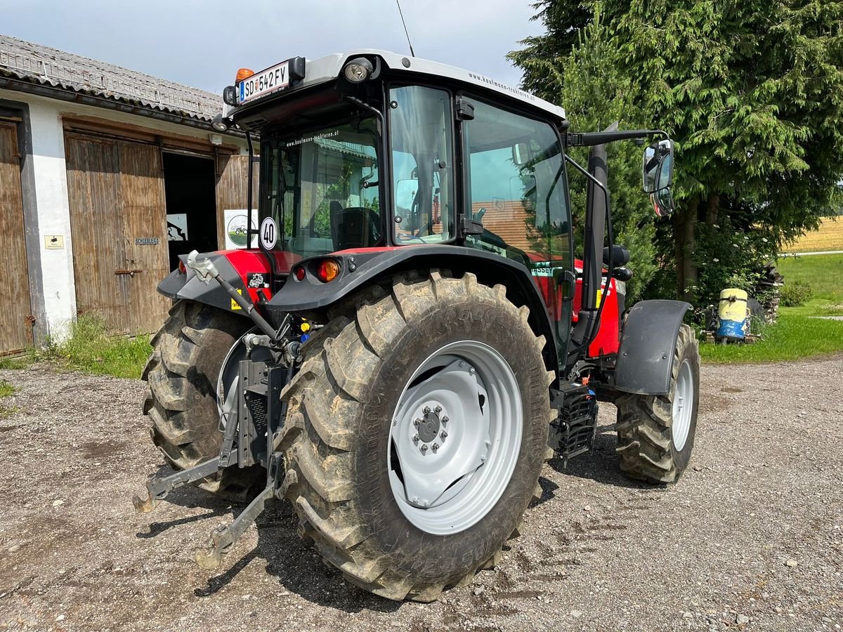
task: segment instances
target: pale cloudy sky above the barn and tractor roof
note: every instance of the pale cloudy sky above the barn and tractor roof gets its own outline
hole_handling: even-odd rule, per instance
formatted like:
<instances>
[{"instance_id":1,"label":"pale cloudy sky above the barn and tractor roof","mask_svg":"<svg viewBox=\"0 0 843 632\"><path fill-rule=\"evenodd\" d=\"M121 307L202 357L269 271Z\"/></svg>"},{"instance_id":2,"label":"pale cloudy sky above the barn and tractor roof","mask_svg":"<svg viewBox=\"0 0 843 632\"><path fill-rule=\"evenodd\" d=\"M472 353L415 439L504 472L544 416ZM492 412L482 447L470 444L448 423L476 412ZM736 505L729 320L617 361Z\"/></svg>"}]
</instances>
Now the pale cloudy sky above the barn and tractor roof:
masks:
<instances>
[{"instance_id":1,"label":"pale cloudy sky above the barn and tractor roof","mask_svg":"<svg viewBox=\"0 0 843 632\"><path fill-rule=\"evenodd\" d=\"M416 56L518 85L532 0L402 0ZM0 33L221 93L239 67L354 48L408 52L395 0L0 0Z\"/></svg>"}]
</instances>

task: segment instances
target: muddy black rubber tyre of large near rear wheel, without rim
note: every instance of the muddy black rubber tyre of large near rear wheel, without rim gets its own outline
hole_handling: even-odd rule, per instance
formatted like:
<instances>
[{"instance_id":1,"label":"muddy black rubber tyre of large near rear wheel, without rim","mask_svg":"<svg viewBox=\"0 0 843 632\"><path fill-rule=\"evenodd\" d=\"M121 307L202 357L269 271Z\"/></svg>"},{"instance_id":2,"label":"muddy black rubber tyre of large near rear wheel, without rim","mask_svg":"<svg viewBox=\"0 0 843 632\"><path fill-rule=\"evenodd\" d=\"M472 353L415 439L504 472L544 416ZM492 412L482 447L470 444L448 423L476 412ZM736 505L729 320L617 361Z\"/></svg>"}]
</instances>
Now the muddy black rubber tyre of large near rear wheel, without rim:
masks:
<instances>
[{"instance_id":1,"label":"muddy black rubber tyre of large near rear wheel, without rim","mask_svg":"<svg viewBox=\"0 0 843 632\"><path fill-rule=\"evenodd\" d=\"M304 536L346 579L389 599L432 601L500 558L534 497L551 417L547 372L529 310L474 275L396 276L357 297L304 346L281 447ZM346 303L346 307L348 304ZM516 376L523 411L517 462L497 503L459 533L425 533L400 511L387 469L390 424L408 379L443 345L478 340Z\"/></svg>"}]
</instances>

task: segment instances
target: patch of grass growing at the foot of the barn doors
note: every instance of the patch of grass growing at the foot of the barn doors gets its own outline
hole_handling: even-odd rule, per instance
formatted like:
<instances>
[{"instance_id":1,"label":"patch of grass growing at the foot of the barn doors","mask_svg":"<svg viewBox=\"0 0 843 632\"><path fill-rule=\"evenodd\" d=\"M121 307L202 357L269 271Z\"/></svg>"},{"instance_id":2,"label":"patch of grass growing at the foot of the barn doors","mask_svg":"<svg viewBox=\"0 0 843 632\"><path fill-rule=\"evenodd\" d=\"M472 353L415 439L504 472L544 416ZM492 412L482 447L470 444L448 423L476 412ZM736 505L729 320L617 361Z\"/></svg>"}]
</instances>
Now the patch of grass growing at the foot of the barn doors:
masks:
<instances>
[{"instance_id":1,"label":"patch of grass growing at the foot of the barn doors","mask_svg":"<svg viewBox=\"0 0 843 632\"><path fill-rule=\"evenodd\" d=\"M111 335L102 319L79 316L67 340L35 351L35 359L65 369L137 379L152 351L148 335Z\"/></svg>"}]
</instances>

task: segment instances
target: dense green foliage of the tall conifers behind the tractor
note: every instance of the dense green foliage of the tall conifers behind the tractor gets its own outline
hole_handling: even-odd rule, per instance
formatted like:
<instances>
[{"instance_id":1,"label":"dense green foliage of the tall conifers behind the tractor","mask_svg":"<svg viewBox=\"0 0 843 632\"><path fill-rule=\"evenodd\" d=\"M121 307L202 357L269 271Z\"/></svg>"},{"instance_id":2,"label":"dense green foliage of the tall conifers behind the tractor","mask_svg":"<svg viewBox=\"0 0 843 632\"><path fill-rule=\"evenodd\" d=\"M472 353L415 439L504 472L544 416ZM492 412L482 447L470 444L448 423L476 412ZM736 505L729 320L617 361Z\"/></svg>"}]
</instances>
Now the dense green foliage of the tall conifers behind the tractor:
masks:
<instances>
[{"instance_id":1,"label":"dense green foliage of the tall conifers behind the tractor","mask_svg":"<svg viewBox=\"0 0 843 632\"><path fill-rule=\"evenodd\" d=\"M524 88L566 105L579 126L566 99L581 81L577 56L588 37L566 54L554 34L588 35L599 16L629 111L677 142L678 212L658 222L657 243L680 294L717 296L712 284L724 274L710 273L713 260L738 259L734 244L744 236L759 247L742 254L760 260L840 206L843 2L604 0L577 5L588 13L585 26L568 6L539 3L547 34L524 40L513 61L524 68ZM609 113L616 104L589 107ZM712 238L726 230L733 234Z\"/></svg>"}]
</instances>

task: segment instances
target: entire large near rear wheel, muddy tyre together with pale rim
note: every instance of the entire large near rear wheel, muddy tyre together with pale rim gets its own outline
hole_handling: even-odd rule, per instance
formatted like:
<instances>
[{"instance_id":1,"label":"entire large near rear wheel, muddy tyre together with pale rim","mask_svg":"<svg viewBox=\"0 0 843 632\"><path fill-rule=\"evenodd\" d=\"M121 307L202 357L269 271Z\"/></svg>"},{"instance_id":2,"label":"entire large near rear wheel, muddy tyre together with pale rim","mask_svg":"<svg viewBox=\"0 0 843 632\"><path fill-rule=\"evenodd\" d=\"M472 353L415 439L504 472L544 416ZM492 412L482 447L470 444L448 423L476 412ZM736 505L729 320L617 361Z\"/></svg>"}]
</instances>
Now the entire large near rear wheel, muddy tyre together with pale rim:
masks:
<instances>
[{"instance_id":1,"label":"entire large near rear wheel, muddy tyre together with pale rim","mask_svg":"<svg viewBox=\"0 0 843 632\"><path fill-rule=\"evenodd\" d=\"M432 601L517 534L552 416L528 315L471 274L396 276L303 347L282 393L284 493L346 579Z\"/></svg>"}]
</instances>

